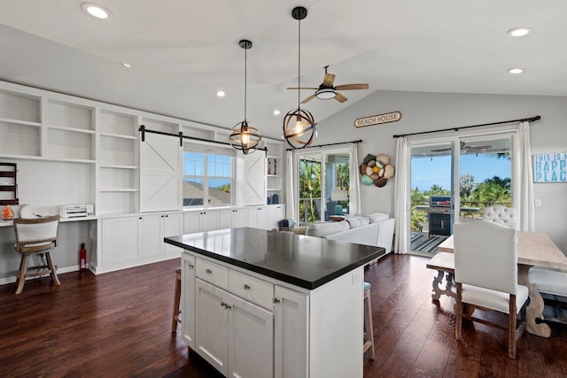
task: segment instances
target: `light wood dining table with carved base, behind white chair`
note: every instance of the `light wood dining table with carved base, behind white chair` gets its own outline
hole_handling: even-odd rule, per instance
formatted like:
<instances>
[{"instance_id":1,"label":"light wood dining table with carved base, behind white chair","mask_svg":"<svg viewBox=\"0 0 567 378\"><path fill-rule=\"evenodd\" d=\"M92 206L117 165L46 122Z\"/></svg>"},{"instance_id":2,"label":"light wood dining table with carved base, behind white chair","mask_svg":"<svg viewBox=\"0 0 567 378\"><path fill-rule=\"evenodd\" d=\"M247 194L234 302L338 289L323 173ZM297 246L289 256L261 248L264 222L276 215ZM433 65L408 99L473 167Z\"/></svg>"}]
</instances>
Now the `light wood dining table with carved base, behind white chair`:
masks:
<instances>
[{"instance_id":1,"label":"light wood dining table with carved base, behind white chair","mask_svg":"<svg viewBox=\"0 0 567 378\"><path fill-rule=\"evenodd\" d=\"M542 266L567 271L567 257L545 233L517 231L517 280L518 283L527 286L529 290L530 304L526 308L526 329L532 335L549 337L551 328L542 322L543 297L541 297L535 283L529 282L529 270L532 266ZM438 270L439 274L433 280L433 299L439 299L440 295L454 297L451 289L454 280L454 239L449 236L437 247L439 253L431 258L427 267ZM441 288L440 282L443 274L447 274L447 287Z\"/></svg>"}]
</instances>

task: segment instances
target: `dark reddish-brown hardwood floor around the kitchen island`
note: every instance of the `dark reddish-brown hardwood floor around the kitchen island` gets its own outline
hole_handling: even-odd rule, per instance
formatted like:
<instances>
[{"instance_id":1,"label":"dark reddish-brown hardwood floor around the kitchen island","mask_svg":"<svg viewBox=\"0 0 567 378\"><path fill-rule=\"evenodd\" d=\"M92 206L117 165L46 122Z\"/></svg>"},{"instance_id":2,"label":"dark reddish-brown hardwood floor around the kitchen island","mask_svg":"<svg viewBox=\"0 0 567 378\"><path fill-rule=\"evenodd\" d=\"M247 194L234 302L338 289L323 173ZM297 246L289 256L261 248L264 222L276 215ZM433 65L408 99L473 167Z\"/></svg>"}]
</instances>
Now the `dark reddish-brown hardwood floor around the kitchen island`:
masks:
<instances>
[{"instance_id":1,"label":"dark reddish-brown hardwood floor around the kitchen island","mask_svg":"<svg viewBox=\"0 0 567 378\"><path fill-rule=\"evenodd\" d=\"M365 357L365 377L567 376L559 324L548 339L524 334L516 360L503 330L465 322L456 342L454 301L431 302L426 261L389 255L366 270L377 356ZM220 377L170 330L179 265L60 274L60 287L43 278L19 296L0 286L0 377Z\"/></svg>"}]
</instances>

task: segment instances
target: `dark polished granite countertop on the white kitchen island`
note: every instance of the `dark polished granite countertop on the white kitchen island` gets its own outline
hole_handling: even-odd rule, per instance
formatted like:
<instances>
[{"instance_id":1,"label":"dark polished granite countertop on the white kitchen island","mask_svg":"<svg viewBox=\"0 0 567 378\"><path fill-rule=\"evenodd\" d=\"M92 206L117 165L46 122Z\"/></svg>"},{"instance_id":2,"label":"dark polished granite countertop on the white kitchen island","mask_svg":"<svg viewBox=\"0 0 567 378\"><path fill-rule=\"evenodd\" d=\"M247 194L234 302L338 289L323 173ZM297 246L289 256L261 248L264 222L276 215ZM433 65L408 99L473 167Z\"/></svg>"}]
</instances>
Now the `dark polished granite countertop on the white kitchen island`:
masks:
<instances>
[{"instance_id":1,"label":"dark polished granite countertop on the white kitchen island","mask_svg":"<svg viewBox=\"0 0 567 378\"><path fill-rule=\"evenodd\" d=\"M385 254L382 247L259 228L229 228L164 241L305 289L315 289Z\"/></svg>"}]
</instances>

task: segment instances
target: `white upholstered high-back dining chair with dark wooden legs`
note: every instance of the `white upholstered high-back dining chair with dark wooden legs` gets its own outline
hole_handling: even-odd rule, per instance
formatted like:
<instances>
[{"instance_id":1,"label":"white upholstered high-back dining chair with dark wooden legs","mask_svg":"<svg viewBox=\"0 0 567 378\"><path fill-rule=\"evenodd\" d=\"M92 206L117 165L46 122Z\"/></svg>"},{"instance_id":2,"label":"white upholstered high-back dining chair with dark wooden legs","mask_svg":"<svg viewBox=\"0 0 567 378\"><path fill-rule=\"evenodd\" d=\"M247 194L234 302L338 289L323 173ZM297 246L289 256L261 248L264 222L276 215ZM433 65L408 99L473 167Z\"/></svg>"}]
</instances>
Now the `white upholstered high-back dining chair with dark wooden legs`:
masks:
<instances>
[{"instance_id":1,"label":"white upholstered high-back dining chair with dark wooden legs","mask_svg":"<svg viewBox=\"0 0 567 378\"><path fill-rule=\"evenodd\" d=\"M528 299L528 288L517 284L516 230L490 221L455 224L454 282L455 338L461 340L463 318L505 328L474 317L477 309L507 313L508 355L516 359L517 339L525 329L524 320L517 327L517 313Z\"/></svg>"}]
</instances>

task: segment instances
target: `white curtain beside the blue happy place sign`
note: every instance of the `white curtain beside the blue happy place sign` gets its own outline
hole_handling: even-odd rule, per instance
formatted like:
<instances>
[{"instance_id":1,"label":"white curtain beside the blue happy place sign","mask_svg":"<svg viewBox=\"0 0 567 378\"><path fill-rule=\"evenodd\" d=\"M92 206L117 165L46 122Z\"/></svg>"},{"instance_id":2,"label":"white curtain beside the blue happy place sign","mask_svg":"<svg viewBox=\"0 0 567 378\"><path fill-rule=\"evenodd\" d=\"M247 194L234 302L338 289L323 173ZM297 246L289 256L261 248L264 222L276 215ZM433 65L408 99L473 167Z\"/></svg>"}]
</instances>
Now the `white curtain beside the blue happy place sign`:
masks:
<instances>
[{"instance_id":1,"label":"white curtain beside the blue happy place sign","mask_svg":"<svg viewBox=\"0 0 567 378\"><path fill-rule=\"evenodd\" d=\"M530 122L522 122L517 127L516 143L514 143L514 191L512 197L512 207L517 210L517 228L520 231L535 231Z\"/></svg>"}]
</instances>

